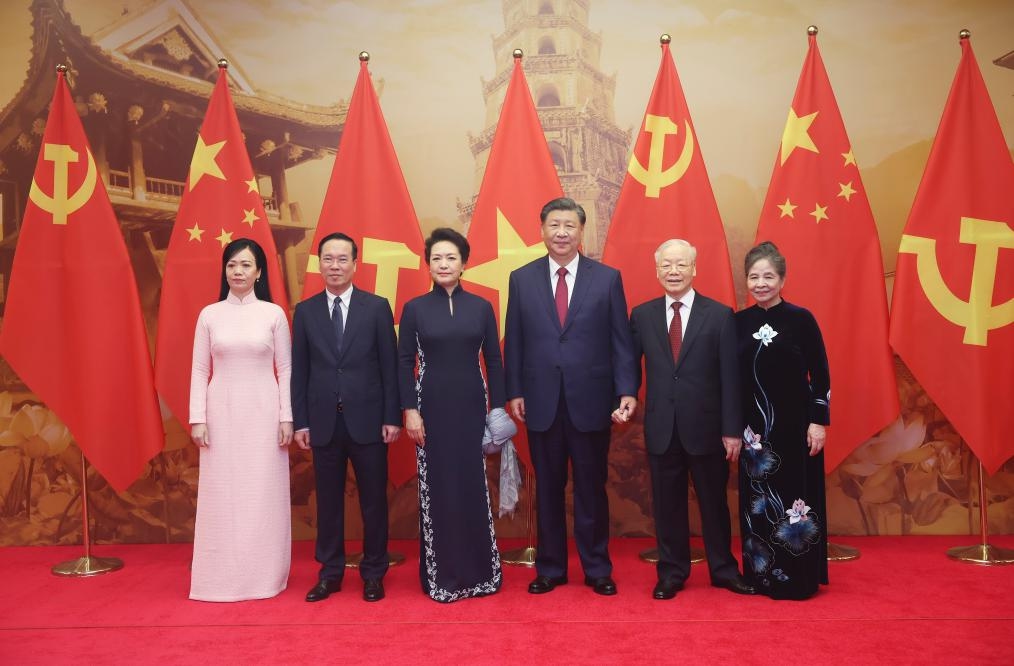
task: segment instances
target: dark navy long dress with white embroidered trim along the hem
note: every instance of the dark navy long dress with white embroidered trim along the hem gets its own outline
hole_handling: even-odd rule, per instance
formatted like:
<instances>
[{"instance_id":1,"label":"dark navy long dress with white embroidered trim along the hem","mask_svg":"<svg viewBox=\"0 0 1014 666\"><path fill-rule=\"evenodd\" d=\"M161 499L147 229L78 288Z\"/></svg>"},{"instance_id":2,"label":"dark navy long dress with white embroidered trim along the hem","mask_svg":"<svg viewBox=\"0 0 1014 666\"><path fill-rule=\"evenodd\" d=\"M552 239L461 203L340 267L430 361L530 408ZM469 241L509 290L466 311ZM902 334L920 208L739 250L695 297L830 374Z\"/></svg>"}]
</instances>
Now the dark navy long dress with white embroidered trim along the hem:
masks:
<instances>
[{"instance_id":1,"label":"dark navy long dress with white embroidered trim along the hem","mask_svg":"<svg viewBox=\"0 0 1014 666\"><path fill-rule=\"evenodd\" d=\"M506 399L499 340L490 302L460 286L451 296L434 287L402 313L402 408L419 410L426 432L426 446L416 448L419 574L423 591L437 601L500 589L483 455L487 394L492 408L503 408Z\"/></svg>"}]
</instances>

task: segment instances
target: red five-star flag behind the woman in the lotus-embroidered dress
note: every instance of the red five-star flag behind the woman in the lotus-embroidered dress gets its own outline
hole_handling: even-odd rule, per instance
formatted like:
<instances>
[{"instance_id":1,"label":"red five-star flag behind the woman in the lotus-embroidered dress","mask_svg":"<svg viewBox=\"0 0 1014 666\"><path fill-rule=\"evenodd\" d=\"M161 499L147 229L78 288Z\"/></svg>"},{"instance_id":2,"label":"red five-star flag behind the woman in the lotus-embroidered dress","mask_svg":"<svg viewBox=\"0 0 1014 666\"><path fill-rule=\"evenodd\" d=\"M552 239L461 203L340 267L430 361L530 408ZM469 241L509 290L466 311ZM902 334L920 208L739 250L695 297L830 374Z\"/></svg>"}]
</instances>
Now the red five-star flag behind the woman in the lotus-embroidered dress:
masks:
<instances>
[{"instance_id":1,"label":"red five-star flag behind the woman in the lotus-embroidered dress","mask_svg":"<svg viewBox=\"0 0 1014 666\"><path fill-rule=\"evenodd\" d=\"M813 313L827 349L834 469L898 415L887 295L873 212L816 35L799 76L760 210L757 242L785 255L785 296Z\"/></svg>"}]
</instances>

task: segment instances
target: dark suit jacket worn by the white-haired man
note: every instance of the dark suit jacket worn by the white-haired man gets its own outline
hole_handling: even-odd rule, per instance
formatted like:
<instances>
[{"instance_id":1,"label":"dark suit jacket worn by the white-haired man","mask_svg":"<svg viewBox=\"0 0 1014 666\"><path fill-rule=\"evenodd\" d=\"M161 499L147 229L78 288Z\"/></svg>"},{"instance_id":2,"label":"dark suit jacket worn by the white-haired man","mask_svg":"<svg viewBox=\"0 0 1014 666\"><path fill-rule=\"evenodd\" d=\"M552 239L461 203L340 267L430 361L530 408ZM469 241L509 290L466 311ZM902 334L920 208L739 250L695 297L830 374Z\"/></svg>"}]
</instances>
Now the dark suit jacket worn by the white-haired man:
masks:
<instances>
[{"instance_id":1,"label":"dark suit jacket worn by the white-haired man","mask_svg":"<svg viewBox=\"0 0 1014 666\"><path fill-rule=\"evenodd\" d=\"M674 420L689 453L724 454L722 436L741 437L743 432L732 310L697 292L675 363L665 314L664 296L631 312L635 358L640 361L644 355L648 374L645 445L650 453L664 453ZM640 375L640 363L637 367Z\"/></svg>"}]
</instances>

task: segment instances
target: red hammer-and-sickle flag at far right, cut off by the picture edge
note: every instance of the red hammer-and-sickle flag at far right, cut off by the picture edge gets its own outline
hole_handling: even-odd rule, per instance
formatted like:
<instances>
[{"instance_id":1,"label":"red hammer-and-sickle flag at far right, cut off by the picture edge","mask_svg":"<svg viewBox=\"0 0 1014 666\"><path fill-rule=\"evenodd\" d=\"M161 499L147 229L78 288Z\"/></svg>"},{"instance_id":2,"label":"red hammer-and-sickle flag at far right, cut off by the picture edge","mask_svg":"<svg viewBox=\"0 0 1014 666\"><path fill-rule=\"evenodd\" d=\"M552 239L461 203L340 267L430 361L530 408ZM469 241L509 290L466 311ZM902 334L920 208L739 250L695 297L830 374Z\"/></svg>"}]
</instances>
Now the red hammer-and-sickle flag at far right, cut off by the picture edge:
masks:
<instances>
[{"instance_id":1,"label":"red hammer-and-sickle flag at far right, cut off by the picture edge","mask_svg":"<svg viewBox=\"0 0 1014 666\"><path fill-rule=\"evenodd\" d=\"M971 44L901 236L890 342L989 473L1014 455L1014 163Z\"/></svg>"}]
</instances>

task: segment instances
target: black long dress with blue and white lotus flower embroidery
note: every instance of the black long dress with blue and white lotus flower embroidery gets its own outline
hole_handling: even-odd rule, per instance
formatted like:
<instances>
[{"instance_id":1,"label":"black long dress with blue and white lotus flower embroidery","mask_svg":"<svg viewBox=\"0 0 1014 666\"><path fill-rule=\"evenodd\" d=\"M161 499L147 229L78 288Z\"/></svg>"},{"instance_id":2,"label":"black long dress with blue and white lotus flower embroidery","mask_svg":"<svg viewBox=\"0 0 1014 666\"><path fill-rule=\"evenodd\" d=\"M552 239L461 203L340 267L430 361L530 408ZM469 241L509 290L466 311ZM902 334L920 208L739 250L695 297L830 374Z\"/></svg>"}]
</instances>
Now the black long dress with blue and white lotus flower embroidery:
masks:
<instances>
[{"instance_id":1,"label":"black long dress with blue and white lotus flower embroidery","mask_svg":"<svg viewBox=\"0 0 1014 666\"><path fill-rule=\"evenodd\" d=\"M785 301L736 313L736 329L747 424L739 457L743 574L773 598L805 599L827 584L824 456L810 456L806 441L811 423L829 423L823 340L813 315Z\"/></svg>"}]
</instances>

